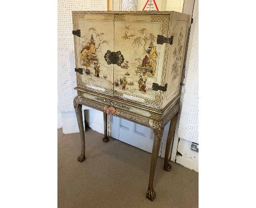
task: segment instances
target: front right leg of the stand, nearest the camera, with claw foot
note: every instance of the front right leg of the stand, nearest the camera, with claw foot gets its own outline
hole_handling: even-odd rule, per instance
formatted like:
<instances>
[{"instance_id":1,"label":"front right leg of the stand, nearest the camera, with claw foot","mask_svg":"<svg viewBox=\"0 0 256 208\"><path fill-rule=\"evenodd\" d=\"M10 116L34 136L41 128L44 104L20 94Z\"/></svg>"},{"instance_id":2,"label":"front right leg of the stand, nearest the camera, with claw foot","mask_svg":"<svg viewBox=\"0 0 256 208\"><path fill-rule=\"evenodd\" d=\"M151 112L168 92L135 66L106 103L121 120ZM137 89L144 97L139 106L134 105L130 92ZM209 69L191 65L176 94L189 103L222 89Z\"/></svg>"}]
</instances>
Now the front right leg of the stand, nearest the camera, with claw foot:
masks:
<instances>
[{"instance_id":1,"label":"front right leg of the stand, nearest the camera, with claw foot","mask_svg":"<svg viewBox=\"0 0 256 208\"><path fill-rule=\"evenodd\" d=\"M153 143L153 149L152 149L152 155L151 155L148 191L146 194L146 197L152 201L156 196L155 191L153 189L153 181L154 181L154 175L155 175L156 162L158 161L158 154L159 154L160 144L162 140L162 133L164 132L164 123L162 121L154 121L153 130L154 130L154 143Z\"/></svg>"}]
</instances>

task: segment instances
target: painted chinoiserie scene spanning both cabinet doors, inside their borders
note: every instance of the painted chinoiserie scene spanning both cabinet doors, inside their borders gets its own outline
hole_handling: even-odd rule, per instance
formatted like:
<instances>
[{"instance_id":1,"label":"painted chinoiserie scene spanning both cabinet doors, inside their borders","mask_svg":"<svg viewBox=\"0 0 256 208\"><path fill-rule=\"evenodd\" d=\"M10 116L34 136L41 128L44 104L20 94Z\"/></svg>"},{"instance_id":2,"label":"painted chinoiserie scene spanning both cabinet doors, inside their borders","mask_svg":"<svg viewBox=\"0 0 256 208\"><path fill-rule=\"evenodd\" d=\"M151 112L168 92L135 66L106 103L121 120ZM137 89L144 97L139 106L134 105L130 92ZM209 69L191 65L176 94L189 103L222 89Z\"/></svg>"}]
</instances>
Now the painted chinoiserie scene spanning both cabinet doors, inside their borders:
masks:
<instances>
[{"instance_id":1,"label":"painted chinoiserie scene spanning both cabinet doors, inside their borders","mask_svg":"<svg viewBox=\"0 0 256 208\"><path fill-rule=\"evenodd\" d=\"M82 30L79 59L83 82L98 90L113 89L114 84L114 90L120 93L154 99L152 84L158 72L160 46L156 44L156 36L161 32L160 25L115 22L113 38L113 30L106 24ZM120 51L123 63L108 64L104 58L107 51Z\"/></svg>"}]
</instances>

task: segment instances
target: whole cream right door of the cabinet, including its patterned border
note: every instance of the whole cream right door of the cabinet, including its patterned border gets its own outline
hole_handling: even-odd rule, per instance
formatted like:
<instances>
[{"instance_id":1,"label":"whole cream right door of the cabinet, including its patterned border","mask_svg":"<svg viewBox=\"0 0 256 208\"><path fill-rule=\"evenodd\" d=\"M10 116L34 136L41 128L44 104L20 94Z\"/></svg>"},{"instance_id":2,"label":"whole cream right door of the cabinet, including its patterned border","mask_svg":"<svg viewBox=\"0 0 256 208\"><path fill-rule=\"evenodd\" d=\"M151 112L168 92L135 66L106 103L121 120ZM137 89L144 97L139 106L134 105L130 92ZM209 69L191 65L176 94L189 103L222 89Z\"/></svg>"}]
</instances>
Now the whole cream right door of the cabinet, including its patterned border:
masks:
<instances>
[{"instance_id":1,"label":"whole cream right door of the cabinet, including its patterned border","mask_svg":"<svg viewBox=\"0 0 256 208\"><path fill-rule=\"evenodd\" d=\"M114 95L142 105L158 107L166 44L156 44L158 35L167 36L169 15L115 14L114 51L124 62L114 65Z\"/></svg>"}]
</instances>

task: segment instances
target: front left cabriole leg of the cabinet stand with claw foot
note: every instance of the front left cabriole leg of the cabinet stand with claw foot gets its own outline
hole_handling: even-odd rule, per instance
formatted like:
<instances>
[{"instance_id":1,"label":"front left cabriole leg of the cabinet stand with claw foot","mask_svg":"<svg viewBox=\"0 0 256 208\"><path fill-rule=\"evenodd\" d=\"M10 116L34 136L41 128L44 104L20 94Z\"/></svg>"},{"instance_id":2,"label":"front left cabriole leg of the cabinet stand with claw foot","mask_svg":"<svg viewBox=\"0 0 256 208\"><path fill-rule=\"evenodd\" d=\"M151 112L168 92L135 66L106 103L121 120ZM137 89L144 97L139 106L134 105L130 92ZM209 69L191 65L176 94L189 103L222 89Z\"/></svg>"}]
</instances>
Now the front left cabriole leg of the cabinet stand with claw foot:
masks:
<instances>
[{"instance_id":1,"label":"front left cabriole leg of the cabinet stand with claw foot","mask_svg":"<svg viewBox=\"0 0 256 208\"><path fill-rule=\"evenodd\" d=\"M79 162L83 162L85 160L85 140L84 140L84 124L83 124L83 113L82 113L82 105L78 104L75 106L75 114L77 115L77 123L80 131L80 139L82 146L82 153L77 158Z\"/></svg>"}]
</instances>

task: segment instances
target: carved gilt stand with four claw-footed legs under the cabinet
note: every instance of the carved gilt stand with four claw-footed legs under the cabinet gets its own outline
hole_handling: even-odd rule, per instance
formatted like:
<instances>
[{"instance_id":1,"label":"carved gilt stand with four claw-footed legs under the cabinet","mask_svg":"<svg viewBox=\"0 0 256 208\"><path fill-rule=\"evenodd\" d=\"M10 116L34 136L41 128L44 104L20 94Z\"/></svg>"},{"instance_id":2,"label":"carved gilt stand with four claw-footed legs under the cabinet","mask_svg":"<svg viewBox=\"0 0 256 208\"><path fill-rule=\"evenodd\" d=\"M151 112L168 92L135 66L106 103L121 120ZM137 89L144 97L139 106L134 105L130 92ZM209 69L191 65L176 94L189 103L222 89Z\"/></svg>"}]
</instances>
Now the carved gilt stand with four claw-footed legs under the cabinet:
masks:
<instances>
[{"instance_id":1,"label":"carved gilt stand with four claw-footed legs under the cabinet","mask_svg":"<svg viewBox=\"0 0 256 208\"><path fill-rule=\"evenodd\" d=\"M84 134L84 125L83 125L83 116L82 116L82 105L94 107L95 109L103 111L103 119L104 119L104 137L102 138L103 142L108 142L109 140L107 136L108 114L112 114L127 120L131 120L137 124L148 126L153 129L154 143L153 143L152 156L151 156L148 191L146 194L146 197L149 200L153 201L156 196L156 193L153 189L155 167L156 167L156 162L158 161L158 154L159 154L162 134L164 132L164 127L169 120L171 120L171 124L168 132L167 142L166 142L164 170L166 171L171 170L171 164L168 163L168 156L169 156L171 142L174 136L174 130L175 130L175 126L178 118L177 105L171 108L170 112L166 113L165 116L162 117L162 119L153 120L153 119L144 118L142 115L134 115L129 112L124 112L123 109L118 109L118 108L116 109L113 106L103 105L102 103L94 102L92 100L88 101L88 99L86 99L85 97L81 97L81 96L75 97L74 108L75 108L75 113L77 115L77 122L79 126L81 146L82 146L82 153L77 159L79 162L83 162L85 160L85 134Z\"/></svg>"}]
</instances>

